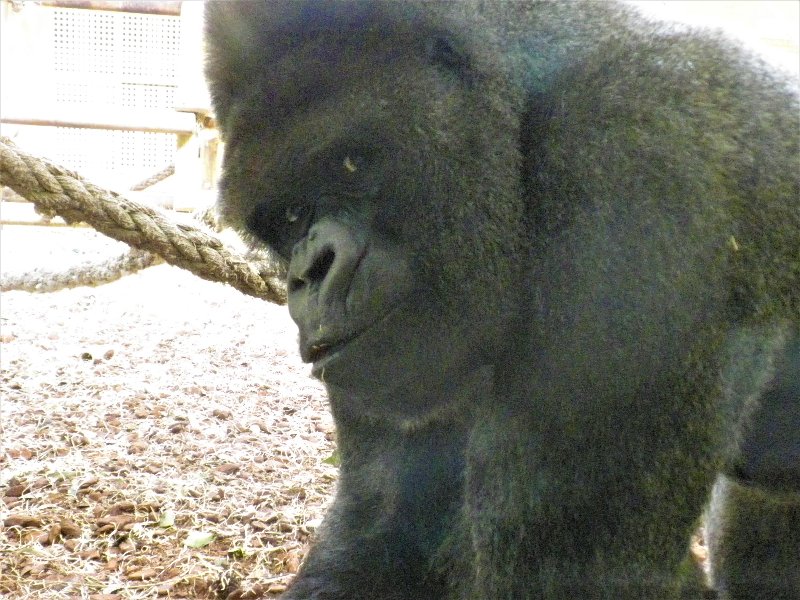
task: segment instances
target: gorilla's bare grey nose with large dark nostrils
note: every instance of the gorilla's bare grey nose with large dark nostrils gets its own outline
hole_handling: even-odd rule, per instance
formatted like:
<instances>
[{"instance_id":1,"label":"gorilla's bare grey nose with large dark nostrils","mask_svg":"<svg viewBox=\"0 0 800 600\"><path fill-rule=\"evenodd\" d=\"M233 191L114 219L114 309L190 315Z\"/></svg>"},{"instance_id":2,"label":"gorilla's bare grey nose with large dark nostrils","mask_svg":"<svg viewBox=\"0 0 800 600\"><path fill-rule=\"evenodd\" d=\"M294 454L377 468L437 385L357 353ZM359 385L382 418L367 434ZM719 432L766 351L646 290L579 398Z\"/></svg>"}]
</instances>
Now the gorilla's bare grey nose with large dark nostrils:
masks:
<instances>
[{"instance_id":1,"label":"gorilla's bare grey nose with large dark nostrils","mask_svg":"<svg viewBox=\"0 0 800 600\"><path fill-rule=\"evenodd\" d=\"M323 219L309 229L289 263L289 312L295 321L322 322L343 311L363 252L363 241L338 220Z\"/></svg>"}]
</instances>

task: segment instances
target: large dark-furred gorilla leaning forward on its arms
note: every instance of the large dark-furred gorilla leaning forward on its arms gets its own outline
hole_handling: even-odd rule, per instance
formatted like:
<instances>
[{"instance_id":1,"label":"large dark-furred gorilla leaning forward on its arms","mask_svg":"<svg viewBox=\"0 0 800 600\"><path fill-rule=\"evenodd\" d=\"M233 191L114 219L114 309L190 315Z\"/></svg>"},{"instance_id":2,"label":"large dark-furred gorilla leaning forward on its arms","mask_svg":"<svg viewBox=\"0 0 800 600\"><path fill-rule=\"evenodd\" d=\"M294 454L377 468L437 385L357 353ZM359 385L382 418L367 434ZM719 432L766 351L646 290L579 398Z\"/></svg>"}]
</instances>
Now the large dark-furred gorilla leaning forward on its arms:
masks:
<instances>
[{"instance_id":1,"label":"large dark-furred gorilla leaning forward on its arms","mask_svg":"<svg viewBox=\"0 0 800 600\"><path fill-rule=\"evenodd\" d=\"M208 6L341 471L306 600L800 598L800 105L609 2Z\"/></svg>"}]
</instances>

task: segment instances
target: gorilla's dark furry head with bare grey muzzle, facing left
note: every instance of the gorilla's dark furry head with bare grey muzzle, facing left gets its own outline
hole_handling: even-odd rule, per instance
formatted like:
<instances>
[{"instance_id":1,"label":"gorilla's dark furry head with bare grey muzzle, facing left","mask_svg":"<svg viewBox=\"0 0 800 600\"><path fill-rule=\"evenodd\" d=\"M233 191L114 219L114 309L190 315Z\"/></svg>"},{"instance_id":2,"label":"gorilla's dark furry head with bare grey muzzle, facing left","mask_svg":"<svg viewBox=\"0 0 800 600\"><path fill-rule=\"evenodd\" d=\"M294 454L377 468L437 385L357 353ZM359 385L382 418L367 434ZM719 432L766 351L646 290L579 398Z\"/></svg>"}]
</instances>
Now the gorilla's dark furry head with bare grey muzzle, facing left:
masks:
<instances>
[{"instance_id":1,"label":"gorilla's dark furry head with bare grey muzzle, facing left","mask_svg":"<svg viewBox=\"0 0 800 600\"><path fill-rule=\"evenodd\" d=\"M422 43L408 21L375 32L358 4L331 6L254 33L269 48L243 72L259 76L212 90L226 101L221 209L288 261L300 352L332 399L417 418L513 318L516 122L483 99L490 78L457 40Z\"/></svg>"}]
</instances>

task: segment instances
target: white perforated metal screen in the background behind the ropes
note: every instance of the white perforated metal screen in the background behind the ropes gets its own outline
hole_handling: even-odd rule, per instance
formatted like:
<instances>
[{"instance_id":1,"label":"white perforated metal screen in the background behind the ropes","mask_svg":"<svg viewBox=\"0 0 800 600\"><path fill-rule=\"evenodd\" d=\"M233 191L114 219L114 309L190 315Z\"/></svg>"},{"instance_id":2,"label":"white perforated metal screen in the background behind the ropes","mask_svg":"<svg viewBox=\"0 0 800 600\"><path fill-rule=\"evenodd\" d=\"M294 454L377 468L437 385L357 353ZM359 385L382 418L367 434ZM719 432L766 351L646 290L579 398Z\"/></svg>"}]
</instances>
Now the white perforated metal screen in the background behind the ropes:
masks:
<instances>
[{"instance_id":1,"label":"white perforated metal screen in the background behind the ropes","mask_svg":"<svg viewBox=\"0 0 800 600\"><path fill-rule=\"evenodd\" d=\"M36 77L46 81L53 104L97 108L98 114L174 108L180 17L38 10L45 33L40 41L50 53L43 65L51 71ZM29 149L117 189L127 189L169 165L176 151L172 133L33 126L20 127L19 133Z\"/></svg>"}]
</instances>

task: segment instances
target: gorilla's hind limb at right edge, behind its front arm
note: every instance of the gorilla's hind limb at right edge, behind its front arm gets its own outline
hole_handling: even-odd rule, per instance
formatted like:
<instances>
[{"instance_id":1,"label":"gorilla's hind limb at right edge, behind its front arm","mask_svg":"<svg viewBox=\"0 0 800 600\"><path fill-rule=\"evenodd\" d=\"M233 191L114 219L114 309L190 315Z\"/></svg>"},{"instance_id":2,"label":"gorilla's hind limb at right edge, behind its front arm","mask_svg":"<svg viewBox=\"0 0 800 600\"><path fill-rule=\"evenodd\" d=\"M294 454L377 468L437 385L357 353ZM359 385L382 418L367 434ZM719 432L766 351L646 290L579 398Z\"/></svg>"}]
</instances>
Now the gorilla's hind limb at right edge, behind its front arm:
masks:
<instances>
[{"instance_id":1,"label":"gorilla's hind limb at right edge, behind its front arm","mask_svg":"<svg viewBox=\"0 0 800 600\"><path fill-rule=\"evenodd\" d=\"M706 522L712 577L730 598L800 594L800 332L772 360Z\"/></svg>"}]
</instances>

